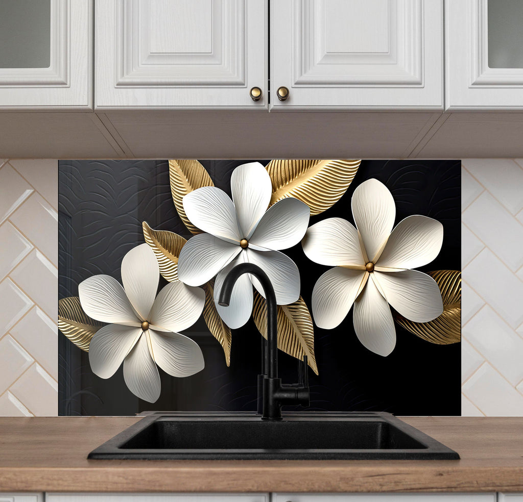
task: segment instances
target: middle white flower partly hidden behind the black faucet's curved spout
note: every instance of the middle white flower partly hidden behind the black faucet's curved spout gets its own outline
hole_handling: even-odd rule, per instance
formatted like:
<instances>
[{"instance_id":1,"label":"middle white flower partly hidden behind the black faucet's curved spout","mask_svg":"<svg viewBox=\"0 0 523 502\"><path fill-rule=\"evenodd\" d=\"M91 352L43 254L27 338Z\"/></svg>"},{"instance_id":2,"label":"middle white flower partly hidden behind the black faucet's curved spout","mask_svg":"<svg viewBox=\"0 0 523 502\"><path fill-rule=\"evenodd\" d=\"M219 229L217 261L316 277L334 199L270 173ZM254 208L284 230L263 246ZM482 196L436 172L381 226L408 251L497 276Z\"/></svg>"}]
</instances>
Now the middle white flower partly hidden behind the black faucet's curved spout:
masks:
<instances>
[{"instance_id":1,"label":"middle white flower partly hidden behind the black faucet's curved spout","mask_svg":"<svg viewBox=\"0 0 523 502\"><path fill-rule=\"evenodd\" d=\"M298 267L285 254L303 238L310 209L289 197L267 209L272 184L259 162L238 166L231 177L230 197L215 186L204 186L187 194L184 210L193 225L204 234L191 237L181 249L178 277L191 286L210 281L215 275L214 300L230 328L240 328L253 309L252 285L263 296L255 277L242 275L233 289L230 307L218 305L224 277L238 263L254 263L263 268L274 287L278 305L288 305L300 295Z\"/></svg>"}]
</instances>

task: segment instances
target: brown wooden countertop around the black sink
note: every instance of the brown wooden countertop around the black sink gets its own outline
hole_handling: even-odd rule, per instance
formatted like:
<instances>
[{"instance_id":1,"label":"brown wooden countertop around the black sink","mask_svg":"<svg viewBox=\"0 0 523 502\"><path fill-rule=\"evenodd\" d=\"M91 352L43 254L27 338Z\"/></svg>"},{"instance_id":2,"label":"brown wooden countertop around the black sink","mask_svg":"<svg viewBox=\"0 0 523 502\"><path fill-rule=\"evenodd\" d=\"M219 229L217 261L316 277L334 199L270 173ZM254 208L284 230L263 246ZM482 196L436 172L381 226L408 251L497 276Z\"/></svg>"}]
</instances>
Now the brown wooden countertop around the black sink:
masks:
<instances>
[{"instance_id":1,"label":"brown wooden countertop around the black sink","mask_svg":"<svg viewBox=\"0 0 523 502\"><path fill-rule=\"evenodd\" d=\"M139 418L0 418L0 492L523 492L523 417L404 418L448 461L87 460Z\"/></svg>"}]
</instances>

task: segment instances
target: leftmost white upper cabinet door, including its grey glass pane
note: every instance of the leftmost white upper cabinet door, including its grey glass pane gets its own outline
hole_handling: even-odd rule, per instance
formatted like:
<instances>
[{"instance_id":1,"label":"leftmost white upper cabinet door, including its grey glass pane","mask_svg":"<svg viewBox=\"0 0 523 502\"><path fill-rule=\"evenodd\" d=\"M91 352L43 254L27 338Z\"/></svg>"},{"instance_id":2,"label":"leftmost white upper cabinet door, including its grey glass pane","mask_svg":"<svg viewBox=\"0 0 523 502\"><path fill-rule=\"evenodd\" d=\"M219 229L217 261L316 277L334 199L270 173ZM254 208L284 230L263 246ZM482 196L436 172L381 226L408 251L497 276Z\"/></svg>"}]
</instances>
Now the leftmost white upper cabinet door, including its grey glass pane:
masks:
<instances>
[{"instance_id":1,"label":"leftmost white upper cabinet door, including its grey glass pane","mask_svg":"<svg viewBox=\"0 0 523 502\"><path fill-rule=\"evenodd\" d=\"M93 109L92 0L0 2L0 110Z\"/></svg>"}]
</instances>

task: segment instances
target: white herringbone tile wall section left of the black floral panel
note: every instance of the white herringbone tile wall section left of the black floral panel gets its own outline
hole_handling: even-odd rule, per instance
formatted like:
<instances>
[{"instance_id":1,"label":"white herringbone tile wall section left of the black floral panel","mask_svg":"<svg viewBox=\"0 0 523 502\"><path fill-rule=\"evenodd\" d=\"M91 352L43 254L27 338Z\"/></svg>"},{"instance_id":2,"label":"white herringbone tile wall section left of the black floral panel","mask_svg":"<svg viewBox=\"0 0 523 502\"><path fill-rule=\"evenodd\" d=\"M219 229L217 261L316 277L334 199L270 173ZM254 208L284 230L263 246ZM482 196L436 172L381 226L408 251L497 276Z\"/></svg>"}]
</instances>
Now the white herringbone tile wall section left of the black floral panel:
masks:
<instances>
[{"instance_id":1,"label":"white herringbone tile wall section left of the black floral panel","mask_svg":"<svg viewBox=\"0 0 523 502\"><path fill-rule=\"evenodd\" d=\"M0 416L58 414L58 161L0 159Z\"/></svg>"}]
</instances>

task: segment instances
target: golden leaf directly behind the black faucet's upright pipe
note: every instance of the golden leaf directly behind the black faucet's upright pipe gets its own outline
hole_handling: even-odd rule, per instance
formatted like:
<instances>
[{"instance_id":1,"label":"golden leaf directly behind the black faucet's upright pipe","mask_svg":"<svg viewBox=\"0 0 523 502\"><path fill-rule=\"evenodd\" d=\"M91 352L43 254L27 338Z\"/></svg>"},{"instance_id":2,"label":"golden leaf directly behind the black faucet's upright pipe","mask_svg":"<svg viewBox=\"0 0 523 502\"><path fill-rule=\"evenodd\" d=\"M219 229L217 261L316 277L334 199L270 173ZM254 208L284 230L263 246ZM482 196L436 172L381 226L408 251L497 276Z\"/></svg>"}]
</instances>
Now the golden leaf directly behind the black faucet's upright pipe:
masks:
<instances>
[{"instance_id":1,"label":"golden leaf directly behind the black faucet's upright pipe","mask_svg":"<svg viewBox=\"0 0 523 502\"><path fill-rule=\"evenodd\" d=\"M267 338L267 305L257 291L254 291L253 319L258 331ZM318 374L314 357L314 326L301 296L290 305L278 305L278 348L300 360L307 356L309 366Z\"/></svg>"}]
</instances>

